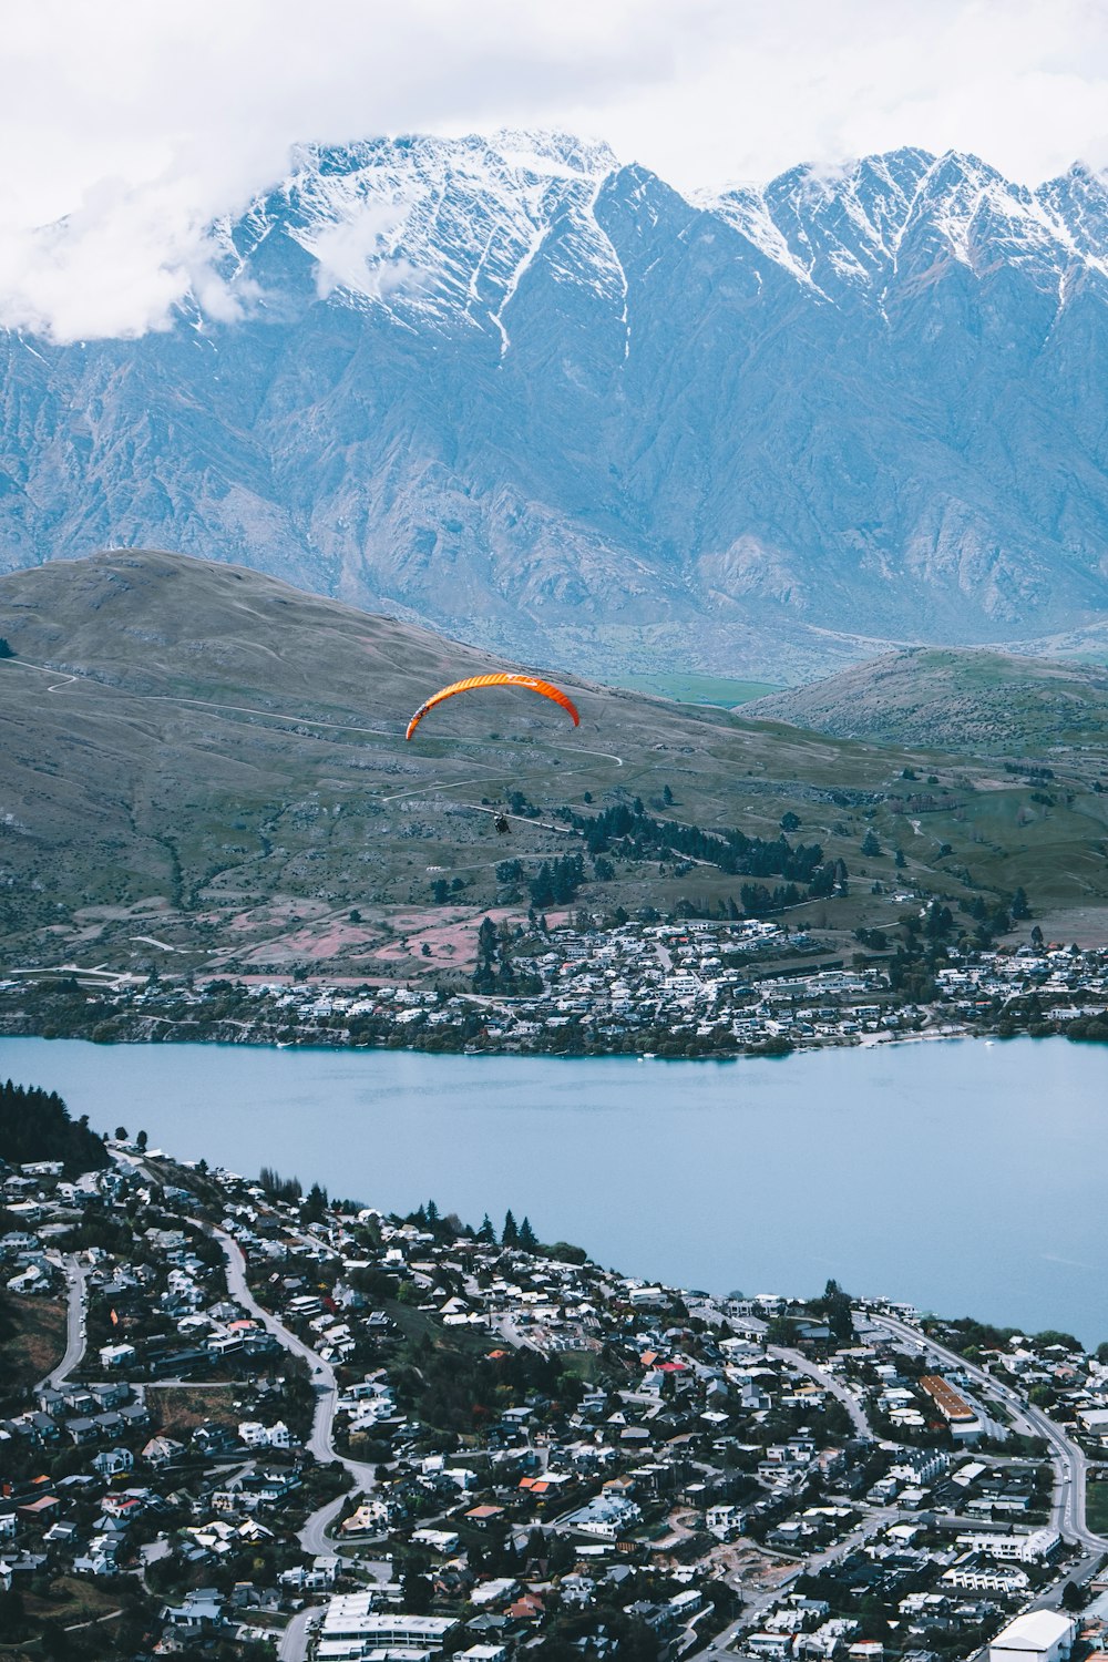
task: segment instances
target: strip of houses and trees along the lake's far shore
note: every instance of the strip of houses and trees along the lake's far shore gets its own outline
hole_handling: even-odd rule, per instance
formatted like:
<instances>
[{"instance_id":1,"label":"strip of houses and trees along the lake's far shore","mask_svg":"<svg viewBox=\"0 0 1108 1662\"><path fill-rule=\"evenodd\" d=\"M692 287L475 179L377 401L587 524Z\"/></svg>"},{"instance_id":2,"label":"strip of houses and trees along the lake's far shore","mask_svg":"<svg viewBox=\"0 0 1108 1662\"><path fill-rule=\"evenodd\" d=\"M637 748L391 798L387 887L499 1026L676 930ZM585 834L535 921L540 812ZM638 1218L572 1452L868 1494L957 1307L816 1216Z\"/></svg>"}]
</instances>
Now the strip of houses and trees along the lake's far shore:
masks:
<instances>
[{"instance_id":1,"label":"strip of houses and trees along the lake's far shore","mask_svg":"<svg viewBox=\"0 0 1108 1662\"><path fill-rule=\"evenodd\" d=\"M909 901L909 896L900 896ZM1108 1037L1108 949L949 939L950 909L912 902L894 939L847 956L769 919L556 926L485 919L465 991L450 982L251 976L159 979L8 971L0 1032L219 1039L523 1054L739 1055L904 1037Z\"/></svg>"}]
</instances>

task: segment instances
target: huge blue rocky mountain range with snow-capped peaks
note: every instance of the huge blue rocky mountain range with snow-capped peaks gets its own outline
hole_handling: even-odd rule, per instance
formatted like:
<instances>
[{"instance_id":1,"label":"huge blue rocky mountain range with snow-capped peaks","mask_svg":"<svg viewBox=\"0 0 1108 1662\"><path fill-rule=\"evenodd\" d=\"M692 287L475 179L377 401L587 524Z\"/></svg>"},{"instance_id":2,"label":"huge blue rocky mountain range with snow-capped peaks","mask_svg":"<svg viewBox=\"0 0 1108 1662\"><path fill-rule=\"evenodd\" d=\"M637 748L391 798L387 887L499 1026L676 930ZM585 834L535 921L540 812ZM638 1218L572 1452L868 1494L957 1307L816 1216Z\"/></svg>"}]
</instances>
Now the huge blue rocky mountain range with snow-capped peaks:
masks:
<instances>
[{"instance_id":1,"label":"huge blue rocky mountain range with snow-capped peaks","mask_svg":"<svg viewBox=\"0 0 1108 1662\"><path fill-rule=\"evenodd\" d=\"M688 199L565 135L304 148L140 341L5 337L0 567L156 543L515 653L781 673L1108 607L1108 183Z\"/></svg>"}]
</instances>

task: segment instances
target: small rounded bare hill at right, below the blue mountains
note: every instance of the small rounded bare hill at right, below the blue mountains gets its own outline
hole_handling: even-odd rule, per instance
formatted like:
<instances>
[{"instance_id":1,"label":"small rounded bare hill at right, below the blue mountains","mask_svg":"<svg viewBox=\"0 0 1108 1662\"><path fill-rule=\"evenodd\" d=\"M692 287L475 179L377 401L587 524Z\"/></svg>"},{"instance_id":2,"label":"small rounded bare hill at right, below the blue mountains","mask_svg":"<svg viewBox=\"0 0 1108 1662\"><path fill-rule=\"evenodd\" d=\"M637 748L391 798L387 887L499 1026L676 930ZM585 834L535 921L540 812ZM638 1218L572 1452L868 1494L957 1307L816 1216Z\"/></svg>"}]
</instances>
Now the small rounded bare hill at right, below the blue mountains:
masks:
<instances>
[{"instance_id":1,"label":"small rounded bare hill at right, below the blue mountains","mask_svg":"<svg viewBox=\"0 0 1108 1662\"><path fill-rule=\"evenodd\" d=\"M1108 668L917 648L744 705L744 715L887 745L1045 756L1108 741Z\"/></svg>"}]
</instances>

